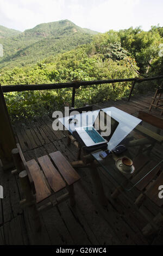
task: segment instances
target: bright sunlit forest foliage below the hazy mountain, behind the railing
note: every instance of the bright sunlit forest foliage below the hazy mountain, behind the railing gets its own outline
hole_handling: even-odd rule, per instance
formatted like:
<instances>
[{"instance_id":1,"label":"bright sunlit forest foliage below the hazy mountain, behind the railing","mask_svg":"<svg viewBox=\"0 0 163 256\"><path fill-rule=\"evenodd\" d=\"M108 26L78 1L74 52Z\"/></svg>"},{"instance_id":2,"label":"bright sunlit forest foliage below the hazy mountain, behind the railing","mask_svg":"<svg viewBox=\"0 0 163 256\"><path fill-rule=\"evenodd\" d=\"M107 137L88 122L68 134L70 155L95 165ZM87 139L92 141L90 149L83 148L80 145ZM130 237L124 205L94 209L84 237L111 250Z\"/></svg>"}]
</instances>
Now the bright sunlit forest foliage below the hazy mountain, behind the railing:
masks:
<instances>
[{"instance_id":1,"label":"bright sunlit forest foliage below the hazy mountain, behind the railing","mask_svg":"<svg viewBox=\"0 0 163 256\"><path fill-rule=\"evenodd\" d=\"M103 80L134 77L135 72L126 59L103 59L103 54L87 54L90 45L78 47L45 59L34 66L1 72L1 84L38 84L70 82L72 80ZM51 60L51 62L49 62ZM136 63L133 65L137 68ZM118 99L128 93L130 83L80 87L76 91L76 106ZM5 94L12 120L52 114L56 109L71 106L72 89L18 92Z\"/></svg>"}]
</instances>

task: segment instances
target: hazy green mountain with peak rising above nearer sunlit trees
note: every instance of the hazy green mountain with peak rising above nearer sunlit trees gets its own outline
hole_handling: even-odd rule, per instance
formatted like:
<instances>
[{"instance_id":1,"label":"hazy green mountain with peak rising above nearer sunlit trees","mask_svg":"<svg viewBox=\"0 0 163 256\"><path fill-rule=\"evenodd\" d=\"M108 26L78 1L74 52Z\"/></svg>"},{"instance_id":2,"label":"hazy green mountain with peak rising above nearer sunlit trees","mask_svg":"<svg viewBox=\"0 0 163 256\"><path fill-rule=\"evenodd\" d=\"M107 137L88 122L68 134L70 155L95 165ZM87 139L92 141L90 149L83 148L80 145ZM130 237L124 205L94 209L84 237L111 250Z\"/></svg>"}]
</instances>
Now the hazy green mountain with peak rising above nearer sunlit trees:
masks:
<instances>
[{"instance_id":1,"label":"hazy green mountain with peak rising above nearer sunlit trees","mask_svg":"<svg viewBox=\"0 0 163 256\"><path fill-rule=\"evenodd\" d=\"M78 45L89 43L92 35L97 33L78 27L71 21L61 20L42 23L9 38L0 38L4 50L0 68L25 66L70 51Z\"/></svg>"}]
</instances>

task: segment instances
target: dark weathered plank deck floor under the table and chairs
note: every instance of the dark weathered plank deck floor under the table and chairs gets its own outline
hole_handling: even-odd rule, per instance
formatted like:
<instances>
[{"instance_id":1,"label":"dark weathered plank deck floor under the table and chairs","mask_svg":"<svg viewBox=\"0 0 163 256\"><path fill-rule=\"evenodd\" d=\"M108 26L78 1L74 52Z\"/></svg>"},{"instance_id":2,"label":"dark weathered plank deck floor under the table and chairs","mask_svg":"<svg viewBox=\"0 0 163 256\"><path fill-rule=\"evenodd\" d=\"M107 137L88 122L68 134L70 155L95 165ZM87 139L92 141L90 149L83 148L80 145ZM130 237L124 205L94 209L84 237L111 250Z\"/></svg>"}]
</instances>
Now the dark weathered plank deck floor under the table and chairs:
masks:
<instances>
[{"instance_id":1,"label":"dark weathered plank deck floor under the table and chairs","mask_svg":"<svg viewBox=\"0 0 163 256\"><path fill-rule=\"evenodd\" d=\"M136 116L139 110L148 112L150 102L151 95L134 96L130 102L109 101L93 107L98 109L115 106ZM159 110L154 109L151 113L161 117ZM67 133L53 131L50 118L35 119L32 122L24 120L24 123L16 124L14 130L26 161L56 150L60 150L70 162L77 159L74 145L67 147ZM156 147L153 154L160 159L160 148ZM111 167L111 171L114 170L112 168L114 167ZM71 208L67 201L42 213L41 233L34 233L28 211L19 206L22 198L18 177L10 172L1 172L0 184L4 187L4 198L0 199L0 245L163 244L162 229L148 239L141 233L141 229L147 224L142 212L152 220L159 209L146 199L138 211L133 205L140 193L136 188L121 194L117 200L112 200L111 192L117 184L100 169L99 174L109 202L108 207L103 208L98 203L90 170L80 168L77 172L82 179L74 186L76 207Z\"/></svg>"}]
</instances>

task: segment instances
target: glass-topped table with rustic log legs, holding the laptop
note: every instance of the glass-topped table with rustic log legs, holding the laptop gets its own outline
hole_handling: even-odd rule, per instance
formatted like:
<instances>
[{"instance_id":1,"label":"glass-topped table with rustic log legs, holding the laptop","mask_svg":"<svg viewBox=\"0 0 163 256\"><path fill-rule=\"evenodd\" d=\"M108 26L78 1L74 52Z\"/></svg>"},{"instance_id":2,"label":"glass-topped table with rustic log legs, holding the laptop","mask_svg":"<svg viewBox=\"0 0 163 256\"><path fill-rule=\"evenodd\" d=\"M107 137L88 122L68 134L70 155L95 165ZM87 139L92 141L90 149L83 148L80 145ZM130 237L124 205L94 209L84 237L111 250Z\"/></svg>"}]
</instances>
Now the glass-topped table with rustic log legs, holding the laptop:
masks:
<instances>
[{"instance_id":1,"label":"glass-topped table with rustic log legs, holding the laptop","mask_svg":"<svg viewBox=\"0 0 163 256\"><path fill-rule=\"evenodd\" d=\"M153 145L156 142L162 143L163 137L158 135L157 133L143 127L142 125L140 125L141 119L135 118L132 115L130 115L126 112L123 112L120 109L117 109L115 107L103 109L103 111L108 111L108 110L111 112L111 116L119 122L119 125L118 125L116 131L114 132L114 134L112 135L112 137L108 143L108 149L111 150L118 144L122 143L122 144L125 144L126 147L129 149L133 148L133 147L139 147L139 149L143 152L143 151L148 151L149 149L151 150ZM98 111L96 111L96 114L98 114ZM76 119L81 118L81 115L82 114L79 114L78 117L76 115L75 118ZM61 123L65 125L67 130L69 130L68 126L66 124L66 120L68 120L68 118L69 117L60 119ZM93 152L93 154L86 154L84 147L82 147L79 144L79 142L77 141L77 139L72 136L72 131L70 131L70 134L68 135L68 145L70 145L71 142L79 149L78 156L80 156L80 154L82 152L82 160L72 162L71 163L72 166L74 168L77 168L77 167L82 167L82 168L89 167L90 168L92 180L95 184L99 201L101 202L102 205L107 205L107 199L106 199L103 185L101 182L101 178L99 176L98 169L97 169L97 167L99 165L104 167L103 164L101 164L102 159L101 159L101 161L98 161L99 160L98 159L99 152L101 150L98 150L96 153L98 155L98 157L95 157L95 152ZM152 147L151 148L149 147L146 149L146 145L149 145L149 144L152 145ZM130 150L128 150L127 154L130 157ZM126 154L123 154L123 155L126 155ZM117 158L121 158L123 155L120 155L117 157L114 154L112 154L113 159L115 161L117 160ZM132 178L132 176L133 175L130 175L130 177L128 176L128 179L126 179L126 181L123 184L124 187L127 186L128 180L130 180ZM120 184L118 190L114 194L112 194L113 198L115 198L117 196L117 194L121 190L123 190L123 186L122 186L122 184Z\"/></svg>"}]
</instances>

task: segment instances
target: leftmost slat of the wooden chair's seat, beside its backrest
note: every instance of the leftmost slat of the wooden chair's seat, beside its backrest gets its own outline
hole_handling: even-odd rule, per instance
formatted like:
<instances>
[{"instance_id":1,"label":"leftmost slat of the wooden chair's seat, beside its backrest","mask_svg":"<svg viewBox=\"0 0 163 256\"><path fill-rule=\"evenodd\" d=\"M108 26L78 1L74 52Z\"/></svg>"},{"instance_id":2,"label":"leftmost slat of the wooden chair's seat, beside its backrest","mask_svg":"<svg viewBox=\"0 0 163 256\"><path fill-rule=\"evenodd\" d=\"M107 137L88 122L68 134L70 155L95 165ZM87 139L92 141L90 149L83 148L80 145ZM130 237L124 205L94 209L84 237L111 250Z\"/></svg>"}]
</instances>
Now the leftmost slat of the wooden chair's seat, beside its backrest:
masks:
<instances>
[{"instance_id":1,"label":"leftmost slat of the wooden chair's seat, beside its backrest","mask_svg":"<svg viewBox=\"0 0 163 256\"><path fill-rule=\"evenodd\" d=\"M43 177L43 173L41 173L40 171L39 164L37 164L37 162L34 159L26 163L29 168L30 174L34 180L36 189L36 202L39 203L43 199L51 196L51 191L46 185L46 181Z\"/></svg>"}]
</instances>

